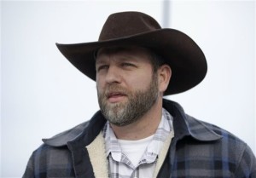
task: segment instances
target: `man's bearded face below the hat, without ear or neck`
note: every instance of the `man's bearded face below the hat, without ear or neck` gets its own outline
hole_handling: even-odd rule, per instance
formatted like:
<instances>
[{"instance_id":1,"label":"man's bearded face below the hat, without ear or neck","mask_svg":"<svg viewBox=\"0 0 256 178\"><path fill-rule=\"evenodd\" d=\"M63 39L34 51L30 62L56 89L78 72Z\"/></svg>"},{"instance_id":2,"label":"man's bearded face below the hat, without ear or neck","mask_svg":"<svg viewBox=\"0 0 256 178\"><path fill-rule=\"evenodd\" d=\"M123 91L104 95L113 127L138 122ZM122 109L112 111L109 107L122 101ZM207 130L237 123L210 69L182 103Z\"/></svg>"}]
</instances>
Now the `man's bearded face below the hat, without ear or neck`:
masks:
<instances>
[{"instance_id":1,"label":"man's bearded face below the hat, without ear or neck","mask_svg":"<svg viewBox=\"0 0 256 178\"><path fill-rule=\"evenodd\" d=\"M101 49L96 57L99 106L110 123L125 126L148 112L159 97L157 72L148 51Z\"/></svg>"}]
</instances>

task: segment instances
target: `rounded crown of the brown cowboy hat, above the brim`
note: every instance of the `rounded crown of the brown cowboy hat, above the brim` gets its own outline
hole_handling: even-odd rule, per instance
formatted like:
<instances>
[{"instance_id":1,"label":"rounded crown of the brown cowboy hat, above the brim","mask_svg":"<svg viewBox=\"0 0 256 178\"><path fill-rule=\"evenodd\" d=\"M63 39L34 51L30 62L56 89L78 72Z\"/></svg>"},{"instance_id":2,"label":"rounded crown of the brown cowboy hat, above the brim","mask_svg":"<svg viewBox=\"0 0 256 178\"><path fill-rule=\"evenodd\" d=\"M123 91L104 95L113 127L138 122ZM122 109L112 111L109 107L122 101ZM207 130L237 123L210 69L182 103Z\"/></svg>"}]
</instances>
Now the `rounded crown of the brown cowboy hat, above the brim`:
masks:
<instances>
[{"instance_id":1,"label":"rounded crown of the brown cowboy hat, above the brim","mask_svg":"<svg viewBox=\"0 0 256 178\"><path fill-rule=\"evenodd\" d=\"M161 29L160 25L148 14L140 12L110 14L102 27L99 41L129 37L157 29Z\"/></svg>"}]
</instances>

